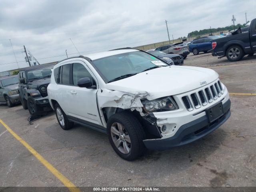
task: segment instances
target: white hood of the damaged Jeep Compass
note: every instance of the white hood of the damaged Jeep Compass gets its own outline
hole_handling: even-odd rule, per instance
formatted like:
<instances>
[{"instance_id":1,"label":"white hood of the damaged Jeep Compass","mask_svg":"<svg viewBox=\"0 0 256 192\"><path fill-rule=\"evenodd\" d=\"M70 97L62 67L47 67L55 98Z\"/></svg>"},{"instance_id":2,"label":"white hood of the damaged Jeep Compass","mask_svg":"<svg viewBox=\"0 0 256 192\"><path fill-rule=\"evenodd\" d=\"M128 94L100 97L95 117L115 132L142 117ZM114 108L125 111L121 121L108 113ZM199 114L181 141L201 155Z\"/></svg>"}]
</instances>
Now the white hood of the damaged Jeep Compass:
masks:
<instances>
[{"instance_id":1,"label":"white hood of the damaged Jeep Compass","mask_svg":"<svg viewBox=\"0 0 256 192\"><path fill-rule=\"evenodd\" d=\"M166 66L106 84L109 90L131 94L148 93L147 99L181 94L200 88L218 78L211 69L191 66ZM200 84L205 82L206 84Z\"/></svg>"}]
</instances>

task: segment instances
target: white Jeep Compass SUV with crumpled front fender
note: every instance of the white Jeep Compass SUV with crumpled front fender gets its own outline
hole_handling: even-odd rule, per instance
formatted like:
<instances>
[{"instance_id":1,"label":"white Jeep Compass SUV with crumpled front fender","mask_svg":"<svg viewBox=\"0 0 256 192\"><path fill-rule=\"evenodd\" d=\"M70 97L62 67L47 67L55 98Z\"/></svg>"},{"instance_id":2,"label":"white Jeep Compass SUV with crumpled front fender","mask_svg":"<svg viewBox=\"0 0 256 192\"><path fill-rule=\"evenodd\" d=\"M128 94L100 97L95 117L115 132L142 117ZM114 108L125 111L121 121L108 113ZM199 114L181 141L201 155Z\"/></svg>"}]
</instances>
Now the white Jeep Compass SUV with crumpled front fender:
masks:
<instances>
[{"instance_id":1,"label":"white Jeep Compass SUV with crumpled front fender","mask_svg":"<svg viewBox=\"0 0 256 192\"><path fill-rule=\"evenodd\" d=\"M62 60L47 90L62 129L78 123L107 133L126 160L145 146L198 140L230 117L228 90L214 70L170 66L132 48Z\"/></svg>"}]
</instances>

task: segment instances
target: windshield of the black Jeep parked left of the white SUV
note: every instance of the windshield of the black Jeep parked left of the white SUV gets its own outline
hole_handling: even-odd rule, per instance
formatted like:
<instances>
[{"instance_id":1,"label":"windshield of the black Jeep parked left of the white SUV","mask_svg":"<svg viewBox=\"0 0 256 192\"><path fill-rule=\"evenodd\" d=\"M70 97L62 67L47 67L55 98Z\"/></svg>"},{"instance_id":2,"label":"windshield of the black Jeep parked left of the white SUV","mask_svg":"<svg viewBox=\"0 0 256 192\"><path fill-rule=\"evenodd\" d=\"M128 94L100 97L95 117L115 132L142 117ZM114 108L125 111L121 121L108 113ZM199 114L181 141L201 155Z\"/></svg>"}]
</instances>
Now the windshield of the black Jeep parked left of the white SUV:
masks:
<instances>
[{"instance_id":1,"label":"windshield of the black Jeep parked left of the white SUV","mask_svg":"<svg viewBox=\"0 0 256 192\"><path fill-rule=\"evenodd\" d=\"M28 81L33 81L38 78L50 78L52 74L52 68L53 66L48 66L44 68L29 70L27 72Z\"/></svg>"}]
</instances>

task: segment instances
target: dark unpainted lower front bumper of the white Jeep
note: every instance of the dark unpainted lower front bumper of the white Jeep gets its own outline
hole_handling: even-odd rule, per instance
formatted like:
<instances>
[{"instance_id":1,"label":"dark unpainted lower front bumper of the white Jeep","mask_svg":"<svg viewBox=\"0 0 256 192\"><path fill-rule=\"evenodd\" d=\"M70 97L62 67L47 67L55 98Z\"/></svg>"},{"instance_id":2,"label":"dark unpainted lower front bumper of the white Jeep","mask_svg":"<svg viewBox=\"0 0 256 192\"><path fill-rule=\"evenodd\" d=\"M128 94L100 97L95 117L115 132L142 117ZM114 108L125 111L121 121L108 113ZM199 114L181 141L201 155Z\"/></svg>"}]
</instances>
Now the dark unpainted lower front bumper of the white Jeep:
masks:
<instances>
[{"instance_id":1,"label":"dark unpainted lower front bumper of the white Jeep","mask_svg":"<svg viewBox=\"0 0 256 192\"><path fill-rule=\"evenodd\" d=\"M193 120L192 122L182 125L176 134L170 138L144 140L143 142L148 149L165 150L198 140L216 130L230 117L230 105L231 102L228 99L223 104L223 116L212 123L209 123L208 117L205 115Z\"/></svg>"}]
</instances>

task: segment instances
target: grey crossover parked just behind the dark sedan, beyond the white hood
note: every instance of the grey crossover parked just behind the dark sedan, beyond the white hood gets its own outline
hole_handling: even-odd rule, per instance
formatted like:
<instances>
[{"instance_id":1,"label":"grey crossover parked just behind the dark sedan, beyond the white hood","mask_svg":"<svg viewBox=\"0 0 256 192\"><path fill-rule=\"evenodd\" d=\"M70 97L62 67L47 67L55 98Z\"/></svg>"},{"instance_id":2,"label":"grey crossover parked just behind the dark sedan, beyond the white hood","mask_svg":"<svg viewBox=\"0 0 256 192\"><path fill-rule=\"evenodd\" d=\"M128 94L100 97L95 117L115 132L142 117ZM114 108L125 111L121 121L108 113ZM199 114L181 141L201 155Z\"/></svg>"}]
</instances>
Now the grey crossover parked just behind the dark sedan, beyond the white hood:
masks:
<instances>
[{"instance_id":1,"label":"grey crossover parked just behind the dark sedan, beyond the white hood","mask_svg":"<svg viewBox=\"0 0 256 192\"><path fill-rule=\"evenodd\" d=\"M184 59L186 59L186 57L189 54L188 46L186 44L184 44L183 42L160 46L160 47L156 48L155 50L165 52L166 54L169 54L169 53L170 54L179 54Z\"/></svg>"}]
</instances>

